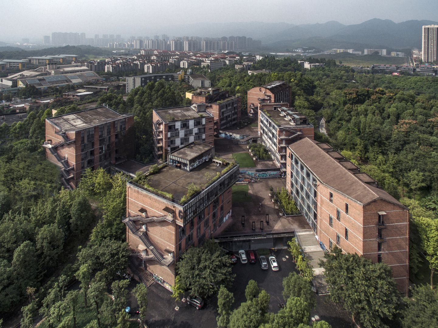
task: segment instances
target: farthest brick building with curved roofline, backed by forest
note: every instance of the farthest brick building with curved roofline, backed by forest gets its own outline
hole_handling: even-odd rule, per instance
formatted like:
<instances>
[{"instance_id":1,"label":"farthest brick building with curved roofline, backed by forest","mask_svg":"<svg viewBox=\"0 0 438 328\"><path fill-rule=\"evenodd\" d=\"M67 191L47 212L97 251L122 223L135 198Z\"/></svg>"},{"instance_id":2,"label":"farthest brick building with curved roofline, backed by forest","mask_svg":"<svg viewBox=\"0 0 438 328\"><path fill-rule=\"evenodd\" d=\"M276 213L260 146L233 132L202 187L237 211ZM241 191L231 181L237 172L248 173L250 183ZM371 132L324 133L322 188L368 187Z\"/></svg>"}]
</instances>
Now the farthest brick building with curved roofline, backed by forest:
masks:
<instances>
[{"instance_id":1,"label":"farthest brick building with curved roofline, backed by forest","mask_svg":"<svg viewBox=\"0 0 438 328\"><path fill-rule=\"evenodd\" d=\"M247 111L249 116L257 117L258 104L265 102L292 102L292 88L284 81L273 81L261 87L248 90Z\"/></svg>"}]
</instances>

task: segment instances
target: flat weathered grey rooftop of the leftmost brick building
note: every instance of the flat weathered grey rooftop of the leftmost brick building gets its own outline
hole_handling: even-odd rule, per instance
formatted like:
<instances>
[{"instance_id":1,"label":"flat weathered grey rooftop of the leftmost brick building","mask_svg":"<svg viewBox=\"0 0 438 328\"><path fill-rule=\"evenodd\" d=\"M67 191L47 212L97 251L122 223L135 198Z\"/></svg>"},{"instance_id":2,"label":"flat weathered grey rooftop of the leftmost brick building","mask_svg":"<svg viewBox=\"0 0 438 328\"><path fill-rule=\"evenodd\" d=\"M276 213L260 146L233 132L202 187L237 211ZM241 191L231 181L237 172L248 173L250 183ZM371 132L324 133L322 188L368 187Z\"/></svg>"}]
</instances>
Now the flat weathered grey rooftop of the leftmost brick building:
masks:
<instances>
[{"instance_id":1,"label":"flat weathered grey rooftop of the leftmost brick building","mask_svg":"<svg viewBox=\"0 0 438 328\"><path fill-rule=\"evenodd\" d=\"M46 120L64 132L74 132L119 120L131 114L120 114L109 107L85 109L76 113L54 116Z\"/></svg>"}]
</instances>

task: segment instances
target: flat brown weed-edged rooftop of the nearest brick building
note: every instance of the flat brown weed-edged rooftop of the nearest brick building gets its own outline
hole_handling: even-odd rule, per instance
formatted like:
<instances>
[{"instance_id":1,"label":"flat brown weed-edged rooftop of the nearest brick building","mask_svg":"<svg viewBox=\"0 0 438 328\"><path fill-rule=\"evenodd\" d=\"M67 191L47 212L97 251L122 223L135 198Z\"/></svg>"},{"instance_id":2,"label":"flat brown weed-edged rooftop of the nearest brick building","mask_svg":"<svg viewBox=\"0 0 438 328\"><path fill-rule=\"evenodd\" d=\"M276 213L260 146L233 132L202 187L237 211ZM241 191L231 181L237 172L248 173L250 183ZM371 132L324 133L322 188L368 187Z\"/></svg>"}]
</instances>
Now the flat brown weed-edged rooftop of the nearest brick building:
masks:
<instances>
[{"instance_id":1,"label":"flat brown weed-edged rooftop of the nearest brick building","mask_svg":"<svg viewBox=\"0 0 438 328\"><path fill-rule=\"evenodd\" d=\"M175 200L180 201L187 194L189 183L194 183L202 189L205 183L225 168L226 166L218 166L212 161L204 162L190 172L168 165L149 176L148 184L152 188L172 194Z\"/></svg>"}]
</instances>

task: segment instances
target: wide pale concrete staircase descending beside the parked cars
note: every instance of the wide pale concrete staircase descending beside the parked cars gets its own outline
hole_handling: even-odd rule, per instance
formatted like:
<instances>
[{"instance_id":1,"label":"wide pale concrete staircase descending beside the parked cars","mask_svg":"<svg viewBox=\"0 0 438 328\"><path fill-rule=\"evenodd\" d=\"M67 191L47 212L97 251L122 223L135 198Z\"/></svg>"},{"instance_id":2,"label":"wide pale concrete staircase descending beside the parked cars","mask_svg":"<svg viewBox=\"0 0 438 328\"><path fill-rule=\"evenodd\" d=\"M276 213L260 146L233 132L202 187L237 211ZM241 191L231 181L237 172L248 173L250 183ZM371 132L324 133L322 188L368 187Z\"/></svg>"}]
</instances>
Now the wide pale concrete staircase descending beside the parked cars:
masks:
<instances>
[{"instance_id":1,"label":"wide pale concrete staircase descending beside the parked cars","mask_svg":"<svg viewBox=\"0 0 438 328\"><path fill-rule=\"evenodd\" d=\"M325 282L324 268L321 268L319 262L324 260L324 250L319 246L318 240L313 230L300 230L295 232L295 238L303 250L304 257L313 268L313 286L316 287L318 295L328 295L329 285Z\"/></svg>"}]
</instances>

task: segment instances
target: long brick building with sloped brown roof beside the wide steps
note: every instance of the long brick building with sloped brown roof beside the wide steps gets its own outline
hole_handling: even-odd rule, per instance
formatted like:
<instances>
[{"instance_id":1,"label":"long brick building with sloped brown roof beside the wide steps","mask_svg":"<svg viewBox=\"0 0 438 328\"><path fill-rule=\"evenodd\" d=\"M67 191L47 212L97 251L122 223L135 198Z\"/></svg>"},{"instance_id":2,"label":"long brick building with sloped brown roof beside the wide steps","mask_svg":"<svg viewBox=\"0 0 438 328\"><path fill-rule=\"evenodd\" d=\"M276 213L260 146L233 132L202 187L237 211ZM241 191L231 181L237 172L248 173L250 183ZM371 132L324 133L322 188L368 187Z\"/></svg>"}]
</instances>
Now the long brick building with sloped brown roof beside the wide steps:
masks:
<instances>
[{"instance_id":1,"label":"long brick building with sloped brown roof beside the wide steps","mask_svg":"<svg viewBox=\"0 0 438 328\"><path fill-rule=\"evenodd\" d=\"M319 241L392 268L409 287L409 212L377 182L325 143L288 147L286 186Z\"/></svg>"}]
</instances>

